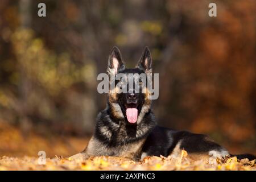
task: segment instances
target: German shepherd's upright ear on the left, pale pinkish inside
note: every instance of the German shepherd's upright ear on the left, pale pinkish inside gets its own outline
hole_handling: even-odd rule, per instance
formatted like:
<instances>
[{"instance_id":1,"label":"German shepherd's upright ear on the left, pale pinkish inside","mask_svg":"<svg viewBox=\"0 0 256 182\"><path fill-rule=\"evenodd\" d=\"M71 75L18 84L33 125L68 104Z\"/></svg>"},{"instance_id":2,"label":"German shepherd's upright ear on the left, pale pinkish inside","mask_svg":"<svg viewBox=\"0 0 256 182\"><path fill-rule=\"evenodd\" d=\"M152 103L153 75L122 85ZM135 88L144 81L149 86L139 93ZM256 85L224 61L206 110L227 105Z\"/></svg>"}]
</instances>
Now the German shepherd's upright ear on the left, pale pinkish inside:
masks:
<instances>
[{"instance_id":1,"label":"German shepherd's upright ear on the left, pale pinkish inside","mask_svg":"<svg viewBox=\"0 0 256 182\"><path fill-rule=\"evenodd\" d=\"M117 47L113 47L109 55L109 64L107 72L110 74L117 75L119 69L124 69L125 64L123 63L121 52Z\"/></svg>"}]
</instances>

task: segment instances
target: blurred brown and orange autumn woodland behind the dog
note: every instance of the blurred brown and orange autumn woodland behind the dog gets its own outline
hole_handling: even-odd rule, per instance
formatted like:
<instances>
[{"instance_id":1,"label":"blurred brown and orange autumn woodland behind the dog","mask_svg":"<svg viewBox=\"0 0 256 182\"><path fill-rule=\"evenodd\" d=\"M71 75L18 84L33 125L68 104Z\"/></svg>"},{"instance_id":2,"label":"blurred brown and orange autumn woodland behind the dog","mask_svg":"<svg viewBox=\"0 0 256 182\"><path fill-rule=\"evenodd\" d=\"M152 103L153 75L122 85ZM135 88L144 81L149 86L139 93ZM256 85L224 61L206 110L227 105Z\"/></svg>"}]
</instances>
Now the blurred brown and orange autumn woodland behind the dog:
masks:
<instances>
[{"instance_id":1,"label":"blurred brown and orange autumn woodland behind the dog","mask_svg":"<svg viewBox=\"0 0 256 182\"><path fill-rule=\"evenodd\" d=\"M150 47L159 125L256 154L255 12L255 0L1 0L0 156L83 150L106 104L97 75L114 45L127 67Z\"/></svg>"}]
</instances>

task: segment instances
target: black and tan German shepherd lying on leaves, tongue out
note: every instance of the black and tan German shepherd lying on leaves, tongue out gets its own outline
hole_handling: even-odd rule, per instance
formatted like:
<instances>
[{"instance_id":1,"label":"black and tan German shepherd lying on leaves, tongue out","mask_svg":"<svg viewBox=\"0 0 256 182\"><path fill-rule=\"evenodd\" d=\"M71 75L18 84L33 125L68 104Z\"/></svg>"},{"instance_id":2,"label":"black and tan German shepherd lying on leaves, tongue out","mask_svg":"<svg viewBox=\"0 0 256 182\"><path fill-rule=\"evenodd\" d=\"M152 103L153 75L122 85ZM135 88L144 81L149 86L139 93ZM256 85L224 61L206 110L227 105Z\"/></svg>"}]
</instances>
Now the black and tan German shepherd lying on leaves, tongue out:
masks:
<instances>
[{"instance_id":1,"label":"black and tan German shepherd lying on leaves, tongue out","mask_svg":"<svg viewBox=\"0 0 256 182\"><path fill-rule=\"evenodd\" d=\"M152 73L150 50L146 47L137 67L127 69L119 49L114 47L110 52L107 72L109 76L115 76L117 73ZM118 82L115 81L115 85ZM153 155L176 156L181 150L187 151L194 159L206 157L209 163L215 163L216 158L221 156L232 156L207 135L157 126L148 92L115 92L109 93L106 109L98 114L94 134L87 147L79 154L71 156L71 159L106 155L138 161ZM238 159L255 159L255 156L250 154L236 156Z\"/></svg>"}]
</instances>

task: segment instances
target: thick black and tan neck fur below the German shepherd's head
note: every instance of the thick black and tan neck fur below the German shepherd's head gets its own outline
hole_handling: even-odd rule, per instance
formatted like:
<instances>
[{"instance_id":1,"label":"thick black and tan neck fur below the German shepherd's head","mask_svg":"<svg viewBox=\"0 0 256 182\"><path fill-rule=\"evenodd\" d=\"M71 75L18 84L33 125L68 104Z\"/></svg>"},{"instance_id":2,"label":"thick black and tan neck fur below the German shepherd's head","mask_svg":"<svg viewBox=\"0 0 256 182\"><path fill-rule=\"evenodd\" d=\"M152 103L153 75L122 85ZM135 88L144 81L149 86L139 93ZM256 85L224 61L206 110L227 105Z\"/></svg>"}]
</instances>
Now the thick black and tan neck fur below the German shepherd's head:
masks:
<instances>
[{"instance_id":1,"label":"thick black and tan neck fur below the German shepherd's head","mask_svg":"<svg viewBox=\"0 0 256 182\"><path fill-rule=\"evenodd\" d=\"M115 117L115 114L107 107L98 114L96 123L95 137L110 146L138 141L156 126L154 114L150 109L143 114L141 121L134 125L127 123L125 117Z\"/></svg>"}]
</instances>

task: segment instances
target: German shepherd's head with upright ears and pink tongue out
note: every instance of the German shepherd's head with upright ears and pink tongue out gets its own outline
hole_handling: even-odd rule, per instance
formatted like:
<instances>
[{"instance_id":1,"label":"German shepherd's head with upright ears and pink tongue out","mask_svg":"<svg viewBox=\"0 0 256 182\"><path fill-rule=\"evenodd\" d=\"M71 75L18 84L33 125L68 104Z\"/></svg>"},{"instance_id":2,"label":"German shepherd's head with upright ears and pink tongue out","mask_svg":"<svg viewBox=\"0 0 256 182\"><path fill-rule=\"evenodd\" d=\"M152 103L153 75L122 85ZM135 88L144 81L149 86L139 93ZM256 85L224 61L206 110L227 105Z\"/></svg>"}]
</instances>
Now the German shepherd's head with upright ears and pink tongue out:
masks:
<instances>
[{"instance_id":1,"label":"German shepherd's head with upright ears and pink tongue out","mask_svg":"<svg viewBox=\"0 0 256 182\"><path fill-rule=\"evenodd\" d=\"M110 85L113 83L113 86L108 98L111 114L132 125L140 123L151 105L147 89L147 76L152 73L150 50L148 47L144 48L135 68L125 68L121 52L114 47L110 52L107 72L110 77L114 77L114 80L110 80Z\"/></svg>"}]
</instances>

